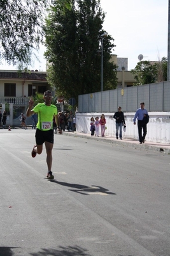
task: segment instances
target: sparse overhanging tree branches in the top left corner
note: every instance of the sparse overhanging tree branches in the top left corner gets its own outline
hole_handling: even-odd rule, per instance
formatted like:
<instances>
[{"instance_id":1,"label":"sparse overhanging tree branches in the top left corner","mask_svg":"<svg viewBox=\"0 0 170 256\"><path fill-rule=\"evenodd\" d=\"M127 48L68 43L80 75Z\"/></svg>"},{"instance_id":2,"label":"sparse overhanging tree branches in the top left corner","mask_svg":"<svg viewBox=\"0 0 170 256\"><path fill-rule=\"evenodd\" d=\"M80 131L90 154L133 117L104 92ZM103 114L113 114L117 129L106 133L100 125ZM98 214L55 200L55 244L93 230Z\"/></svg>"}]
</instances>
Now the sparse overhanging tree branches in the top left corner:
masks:
<instances>
[{"instance_id":1,"label":"sparse overhanging tree branches in the top left corner","mask_svg":"<svg viewBox=\"0 0 170 256\"><path fill-rule=\"evenodd\" d=\"M48 0L0 1L0 62L29 65L33 49L43 41L43 13L50 6ZM63 10L69 0L60 0Z\"/></svg>"}]
</instances>

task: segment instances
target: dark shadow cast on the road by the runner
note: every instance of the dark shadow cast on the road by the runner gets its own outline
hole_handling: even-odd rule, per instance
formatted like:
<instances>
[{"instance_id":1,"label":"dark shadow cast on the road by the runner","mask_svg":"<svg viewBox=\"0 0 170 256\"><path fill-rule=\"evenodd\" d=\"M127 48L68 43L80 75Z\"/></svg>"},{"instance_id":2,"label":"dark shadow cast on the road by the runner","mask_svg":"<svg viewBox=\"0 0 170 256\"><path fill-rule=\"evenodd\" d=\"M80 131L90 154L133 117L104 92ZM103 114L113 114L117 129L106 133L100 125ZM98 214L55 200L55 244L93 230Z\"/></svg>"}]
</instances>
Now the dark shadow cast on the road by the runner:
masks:
<instances>
[{"instance_id":1,"label":"dark shadow cast on the road by the runner","mask_svg":"<svg viewBox=\"0 0 170 256\"><path fill-rule=\"evenodd\" d=\"M72 184L72 183L67 183L67 182L60 182L57 180L53 180L52 182L55 182L61 186L66 186L69 188L74 188L74 189L69 189L69 191L73 191L76 193L80 193L82 195L92 195L93 193L103 193L103 195L117 195L115 193L109 192L108 189L103 188L101 186L95 186L92 185L90 187L81 185L81 184Z\"/></svg>"}]
</instances>

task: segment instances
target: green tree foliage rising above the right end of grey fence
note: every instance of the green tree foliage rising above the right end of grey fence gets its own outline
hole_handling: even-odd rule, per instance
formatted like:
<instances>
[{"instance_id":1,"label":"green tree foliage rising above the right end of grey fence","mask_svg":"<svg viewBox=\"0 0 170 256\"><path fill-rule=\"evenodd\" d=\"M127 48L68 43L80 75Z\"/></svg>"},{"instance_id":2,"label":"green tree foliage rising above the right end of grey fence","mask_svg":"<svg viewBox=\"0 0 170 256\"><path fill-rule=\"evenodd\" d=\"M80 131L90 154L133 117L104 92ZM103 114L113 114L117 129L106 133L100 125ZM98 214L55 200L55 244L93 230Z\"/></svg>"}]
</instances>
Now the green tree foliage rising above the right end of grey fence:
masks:
<instances>
[{"instance_id":1,"label":"green tree foliage rising above the right end of grey fence","mask_svg":"<svg viewBox=\"0 0 170 256\"><path fill-rule=\"evenodd\" d=\"M136 83L134 85L157 83L167 81L167 58L161 61L139 61L134 69Z\"/></svg>"}]
</instances>

